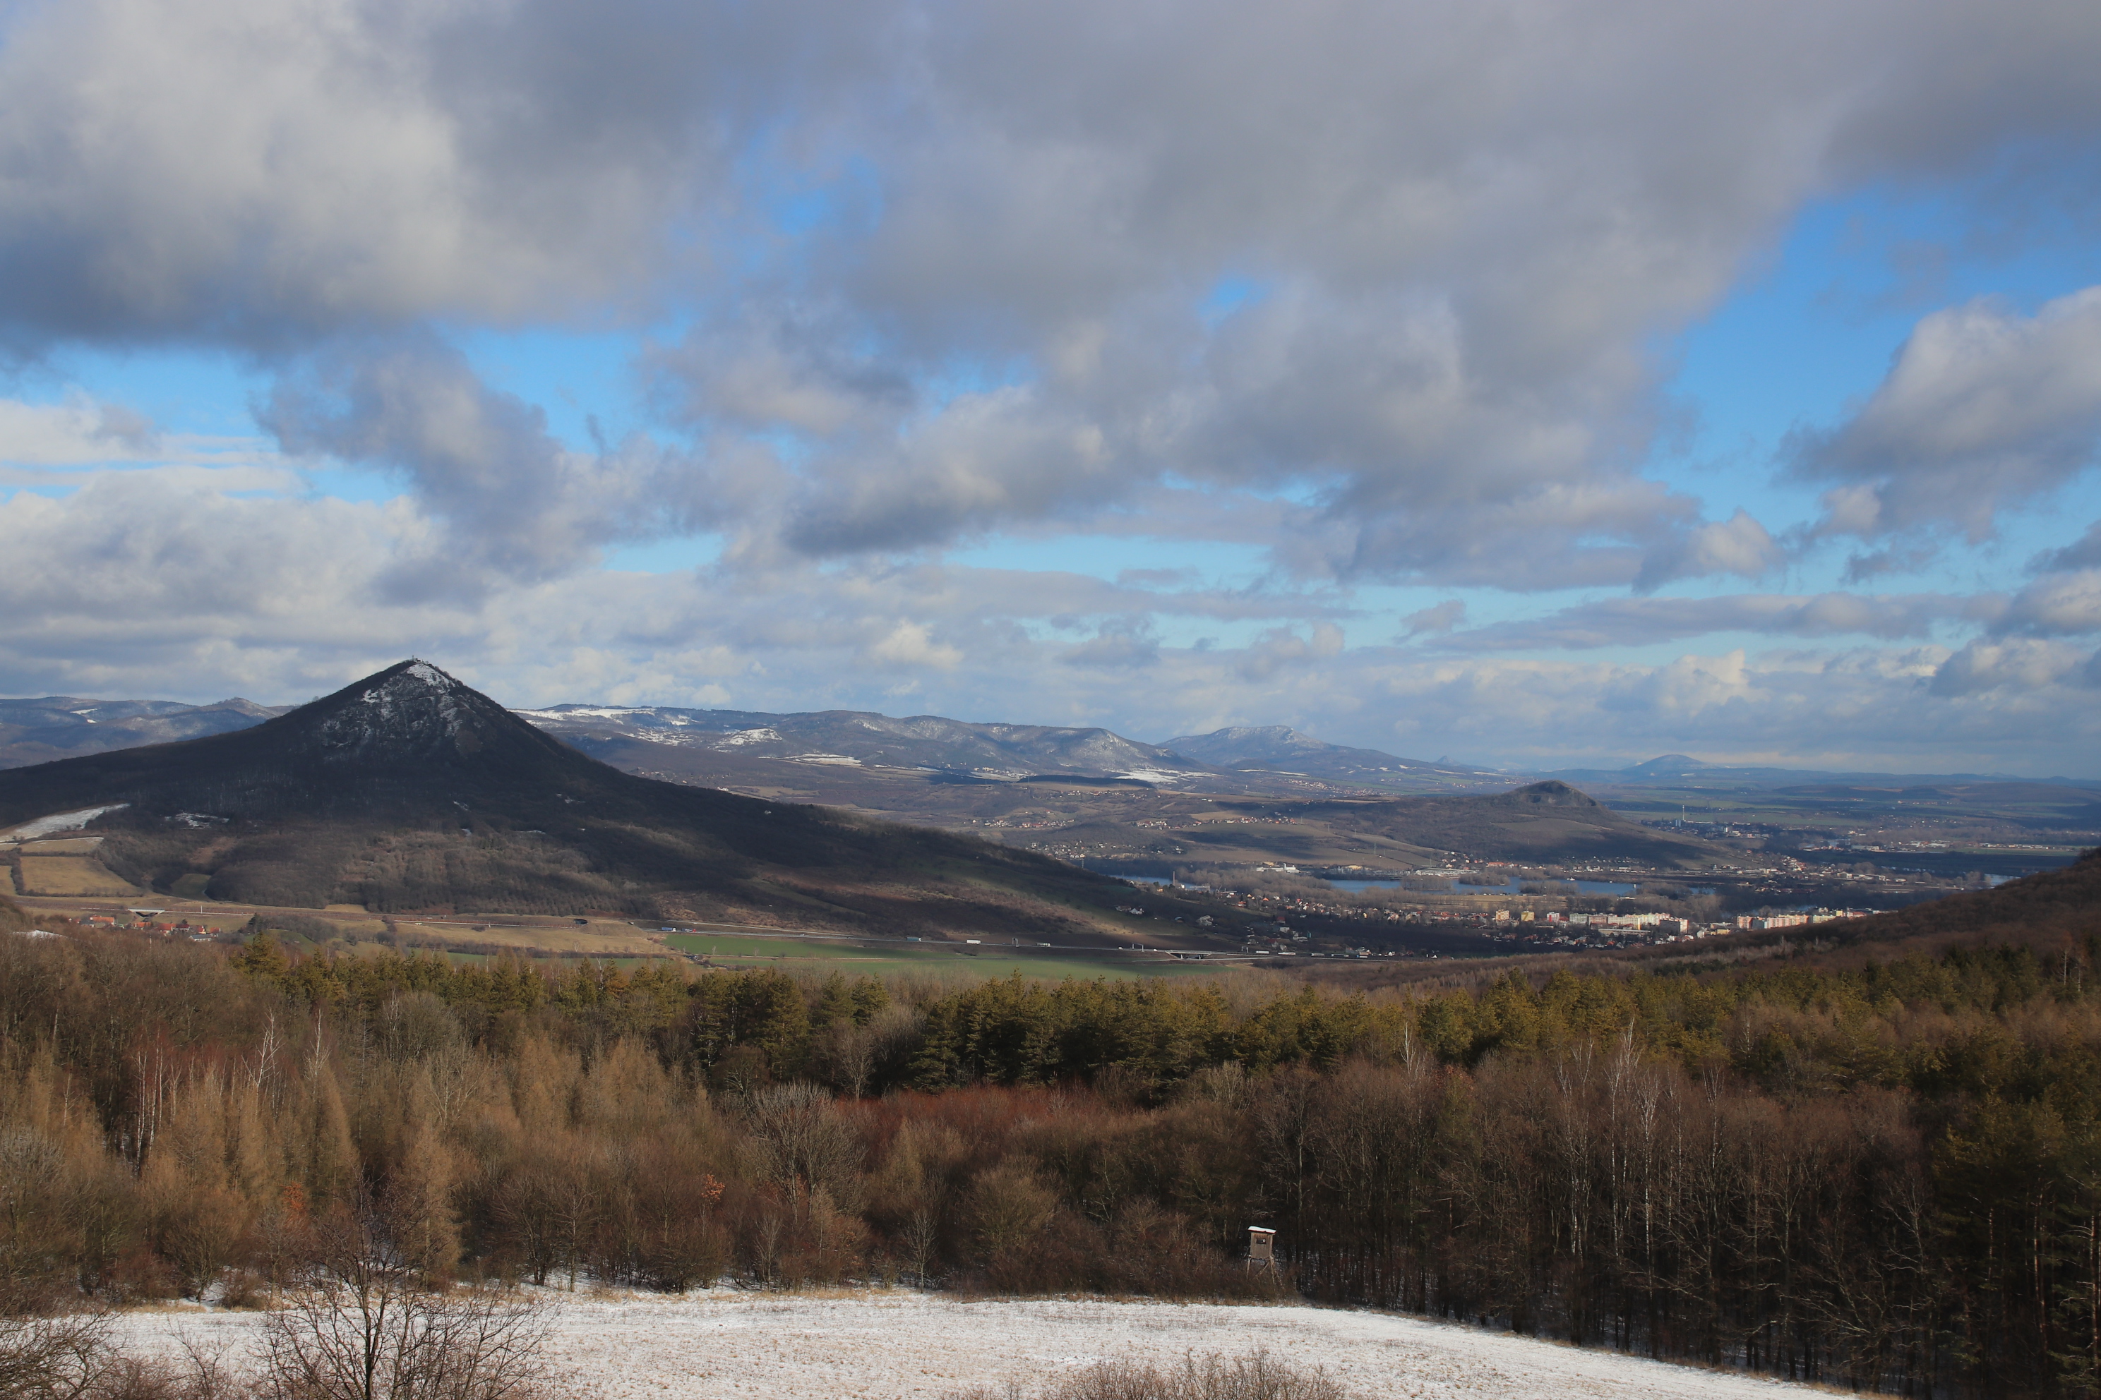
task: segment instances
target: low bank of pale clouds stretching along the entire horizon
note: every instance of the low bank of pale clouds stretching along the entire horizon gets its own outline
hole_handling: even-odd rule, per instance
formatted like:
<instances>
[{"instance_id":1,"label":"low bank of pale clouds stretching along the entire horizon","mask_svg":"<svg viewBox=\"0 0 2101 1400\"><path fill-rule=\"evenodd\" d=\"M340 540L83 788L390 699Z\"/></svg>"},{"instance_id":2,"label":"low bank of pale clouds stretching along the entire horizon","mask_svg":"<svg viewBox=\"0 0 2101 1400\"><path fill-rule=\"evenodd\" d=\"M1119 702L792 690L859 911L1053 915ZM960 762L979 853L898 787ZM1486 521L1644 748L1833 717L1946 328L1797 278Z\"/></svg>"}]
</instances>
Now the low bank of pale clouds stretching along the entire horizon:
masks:
<instances>
[{"instance_id":1,"label":"low bank of pale clouds stretching along the entire horizon","mask_svg":"<svg viewBox=\"0 0 2101 1400\"><path fill-rule=\"evenodd\" d=\"M1897 640L1637 665L1345 646L1338 628L1301 623L1244 646L1158 644L1135 686L1130 667L1061 665L1074 646L1015 625L1116 600L1103 621L1143 615L1128 590L1078 575L1036 575L1032 590L1032 575L937 565L763 579L586 571L410 600L389 577L445 539L414 497L250 500L122 472L61 500L0 502L0 531L19 542L0 571L0 676L17 695L300 701L429 655L513 703L895 709L906 678L931 714L1137 739L1290 722L1519 770L1700 751L2090 775L2101 751L2097 663L2048 638L1967 655ZM1095 625L1095 638L1114 634Z\"/></svg>"}]
</instances>

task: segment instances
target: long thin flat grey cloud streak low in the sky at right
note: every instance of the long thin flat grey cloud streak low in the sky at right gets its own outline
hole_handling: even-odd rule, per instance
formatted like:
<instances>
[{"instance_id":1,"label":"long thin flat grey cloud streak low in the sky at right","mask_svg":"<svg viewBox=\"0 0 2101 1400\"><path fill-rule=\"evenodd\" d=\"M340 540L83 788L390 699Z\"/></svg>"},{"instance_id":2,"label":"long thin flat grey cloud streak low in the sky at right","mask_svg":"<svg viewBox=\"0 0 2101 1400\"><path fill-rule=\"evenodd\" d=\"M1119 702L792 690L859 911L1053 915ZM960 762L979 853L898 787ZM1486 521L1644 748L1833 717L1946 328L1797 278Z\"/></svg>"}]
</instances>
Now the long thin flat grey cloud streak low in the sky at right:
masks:
<instances>
[{"instance_id":1,"label":"long thin flat grey cloud streak low in the sky at right","mask_svg":"<svg viewBox=\"0 0 2101 1400\"><path fill-rule=\"evenodd\" d=\"M1561 609L1536 621L1492 623L1456 632L1448 651L1542 651L1649 646L1714 632L1765 636L1922 638L1952 619L1994 613L1992 600L1948 594L1859 596L1733 594L1721 598L1609 598Z\"/></svg>"}]
</instances>

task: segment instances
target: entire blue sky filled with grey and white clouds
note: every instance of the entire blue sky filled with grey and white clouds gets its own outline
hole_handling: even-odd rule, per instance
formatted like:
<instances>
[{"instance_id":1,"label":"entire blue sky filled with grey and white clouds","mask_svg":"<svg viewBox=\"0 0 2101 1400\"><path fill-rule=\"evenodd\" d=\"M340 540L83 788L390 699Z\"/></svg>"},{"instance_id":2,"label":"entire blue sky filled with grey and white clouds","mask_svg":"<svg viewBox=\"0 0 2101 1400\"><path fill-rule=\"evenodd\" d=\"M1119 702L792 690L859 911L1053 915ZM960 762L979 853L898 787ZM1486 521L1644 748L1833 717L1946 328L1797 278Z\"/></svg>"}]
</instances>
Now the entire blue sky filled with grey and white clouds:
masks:
<instances>
[{"instance_id":1,"label":"entire blue sky filled with grey and white clouds","mask_svg":"<svg viewBox=\"0 0 2101 1400\"><path fill-rule=\"evenodd\" d=\"M0 8L0 693L2101 777L2101 8Z\"/></svg>"}]
</instances>

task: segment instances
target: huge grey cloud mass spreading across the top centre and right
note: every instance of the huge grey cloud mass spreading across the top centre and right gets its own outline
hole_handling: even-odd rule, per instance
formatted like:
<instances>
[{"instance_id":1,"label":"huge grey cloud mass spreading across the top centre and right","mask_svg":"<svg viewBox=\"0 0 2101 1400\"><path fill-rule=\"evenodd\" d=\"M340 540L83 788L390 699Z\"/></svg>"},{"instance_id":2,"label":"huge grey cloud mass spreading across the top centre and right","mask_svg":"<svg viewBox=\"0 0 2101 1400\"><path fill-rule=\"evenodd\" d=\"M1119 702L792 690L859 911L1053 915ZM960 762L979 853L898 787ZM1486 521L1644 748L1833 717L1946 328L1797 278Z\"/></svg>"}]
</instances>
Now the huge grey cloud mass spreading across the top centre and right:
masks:
<instances>
[{"instance_id":1,"label":"huge grey cloud mass spreading across the top centre and right","mask_svg":"<svg viewBox=\"0 0 2101 1400\"><path fill-rule=\"evenodd\" d=\"M1975 38L1967 13L1887 19L1609 6L1567 17L1580 36L1527 15L1513 44L1494 6L979 15L929 31L927 120L882 157L882 222L821 248L903 359L971 342L1029 365L1042 420L1097 424L1120 481L1172 470L1324 504L1284 539L1290 569L1754 575L1771 542L1719 537L1620 466L1658 413L1643 340L1708 304L1834 166L1914 162L1914 134L1874 111L1925 107L1946 90L1935 65L2053 76L2067 99L1996 109L1971 90L1960 118L1935 113L1971 160L2095 115L2065 63L2095 34L2072 13L1960 52L1946 40ZM1565 63L1574 44L1584 65ZM1225 273L1258 294L1200 325ZM1000 481L941 518L918 495L927 466L899 453L868 468L891 485L866 504L939 537L1101 497L1055 458L1019 470L1053 481ZM1546 514L1567 523L1540 535ZM1679 548L1649 550L1658 535Z\"/></svg>"}]
</instances>

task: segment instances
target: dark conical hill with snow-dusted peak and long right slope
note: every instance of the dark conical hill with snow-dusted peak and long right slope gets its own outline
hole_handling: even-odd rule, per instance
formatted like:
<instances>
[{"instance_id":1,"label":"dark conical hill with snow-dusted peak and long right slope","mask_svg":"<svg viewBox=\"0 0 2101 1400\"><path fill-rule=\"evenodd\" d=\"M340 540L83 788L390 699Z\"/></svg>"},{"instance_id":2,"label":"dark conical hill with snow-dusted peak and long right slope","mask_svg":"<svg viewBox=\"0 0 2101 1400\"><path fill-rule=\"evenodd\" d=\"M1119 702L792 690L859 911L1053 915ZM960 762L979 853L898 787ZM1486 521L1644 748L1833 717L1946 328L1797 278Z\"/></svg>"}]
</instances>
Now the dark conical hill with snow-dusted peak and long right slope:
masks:
<instances>
[{"instance_id":1,"label":"dark conical hill with snow-dusted peak and long right slope","mask_svg":"<svg viewBox=\"0 0 2101 1400\"><path fill-rule=\"evenodd\" d=\"M1093 938L1128 896L969 835L620 772L422 661L240 733L0 772L0 829L88 808L116 810L65 858L252 905Z\"/></svg>"}]
</instances>

